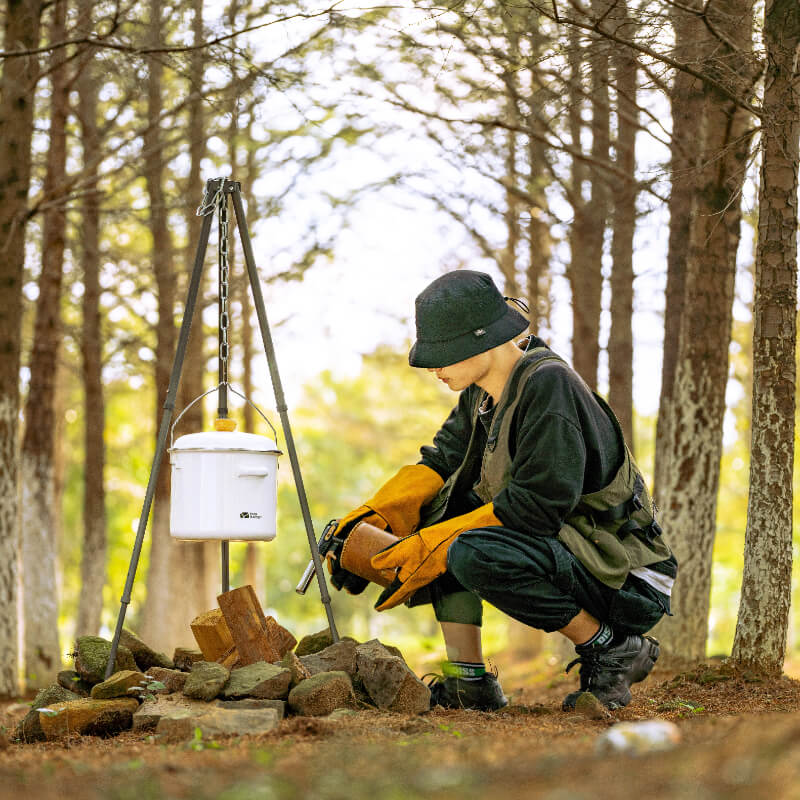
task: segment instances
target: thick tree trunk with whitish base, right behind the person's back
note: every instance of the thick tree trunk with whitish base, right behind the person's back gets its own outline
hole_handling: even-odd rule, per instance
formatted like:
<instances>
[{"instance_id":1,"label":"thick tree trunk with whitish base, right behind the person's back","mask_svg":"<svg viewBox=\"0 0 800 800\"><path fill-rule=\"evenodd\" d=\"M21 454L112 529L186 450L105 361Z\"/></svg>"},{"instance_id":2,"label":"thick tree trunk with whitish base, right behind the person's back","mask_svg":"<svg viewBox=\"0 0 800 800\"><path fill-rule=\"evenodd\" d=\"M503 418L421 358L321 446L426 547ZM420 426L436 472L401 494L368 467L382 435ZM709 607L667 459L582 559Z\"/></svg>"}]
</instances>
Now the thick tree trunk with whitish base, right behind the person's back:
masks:
<instances>
[{"instance_id":1,"label":"thick tree trunk with whitish base, right behind the person's back","mask_svg":"<svg viewBox=\"0 0 800 800\"><path fill-rule=\"evenodd\" d=\"M714 24L738 45L726 68L747 79L752 6L716 8ZM731 20L736 23L732 24ZM717 39L698 46L720 58ZM709 56L704 68L714 74ZM735 87L741 88L739 86ZM690 221L685 313L678 343L670 454L661 474L663 525L680 564L673 594L674 617L659 625L664 654L675 661L705 657L716 530L722 423L728 382L736 251L741 222L740 193L749 154L750 120L715 88L704 87L701 170Z\"/></svg>"}]
</instances>

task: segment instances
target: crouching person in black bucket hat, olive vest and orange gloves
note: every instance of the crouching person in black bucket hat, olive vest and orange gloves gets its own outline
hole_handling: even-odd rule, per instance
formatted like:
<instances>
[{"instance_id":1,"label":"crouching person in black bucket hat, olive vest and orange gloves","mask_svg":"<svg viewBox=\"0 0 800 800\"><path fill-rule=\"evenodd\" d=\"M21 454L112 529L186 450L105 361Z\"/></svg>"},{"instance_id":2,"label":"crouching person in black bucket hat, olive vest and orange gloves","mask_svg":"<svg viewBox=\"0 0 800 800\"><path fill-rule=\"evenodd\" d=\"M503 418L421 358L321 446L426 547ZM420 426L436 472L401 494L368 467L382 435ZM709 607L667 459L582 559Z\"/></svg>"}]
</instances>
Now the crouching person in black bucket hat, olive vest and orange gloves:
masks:
<instances>
[{"instance_id":1,"label":"crouching person in black bucket hat, olive vest and orange gloves","mask_svg":"<svg viewBox=\"0 0 800 800\"><path fill-rule=\"evenodd\" d=\"M574 645L582 692L614 709L658 658L677 563L605 401L536 336L490 276L460 270L416 301L412 367L458 404L418 464L331 531L332 582L384 586L376 608L432 603L448 661L432 704L494 710L482 603Z\"/></svg>"}]
</instances>

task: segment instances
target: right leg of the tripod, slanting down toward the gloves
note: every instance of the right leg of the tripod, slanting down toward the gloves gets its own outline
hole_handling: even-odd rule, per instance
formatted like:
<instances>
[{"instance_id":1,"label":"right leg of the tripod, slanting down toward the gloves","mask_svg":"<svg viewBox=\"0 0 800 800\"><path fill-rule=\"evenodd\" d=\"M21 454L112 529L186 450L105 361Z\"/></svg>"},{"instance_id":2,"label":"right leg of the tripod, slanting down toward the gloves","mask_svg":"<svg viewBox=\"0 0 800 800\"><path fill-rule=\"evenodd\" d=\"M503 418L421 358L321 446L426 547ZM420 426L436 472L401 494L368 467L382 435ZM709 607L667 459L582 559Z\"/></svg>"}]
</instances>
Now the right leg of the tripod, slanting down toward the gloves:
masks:
<instances>
[{"instance_id":1,"label":"right leg of the tripod, slanting down toward the gloves","mask_svg":"<svg viewBox=\"0 0 800 800\"><path fill-rule=\"evenodd\" d=\"M300 510L303 515L303 522L305 523L306 535L308 536L308 546L311 549L311 559L314 562L314 571L317 574L319 593L322 599L322 604L325 607L325 614L328 617L328 627L331 631L331 637L333 638L334 642L338 642L339 634L336 630L336 623L333 619L331 596L328 592L328 585L325 581L325 573L322 570L322 562L319 557L319 551L317 550L317 538L314 535L314 524L311 521L311 512L308 508L308 498L306 497L305 485L303 484L303 476L300 473L300 462L297 458L297 450L294 445L292 428L289 424L289 415L287 413L288 407L283 394L281 377L278 373L278 364L275 358L275 347L272 343L272 334L270 333L269 323L267 322L267 312L264 307L264 296L261 293L261 284L258 280L255 259L253 258L253 247L250 243L250 235L247 232L247 220L245 219L244 215L241 189L238 184L233 185L231 197L233 198L233 208L236 212L236 223L239 227L239 235L242 240L242 252L244 253L244 260L247 264L247 274L250 279L250 288L253 290L253 303L256 307L258 324L261 328L261 338L264 342L264 351L267 355L267 364L269 366L269 374L272 380L272 388L275 392L275 404L278 409L278 414L281 418L281 425L283 426L283 435L286 439L286 449L289 451L289 461L292 465L292 474L294 475L294 482L295 486L297 487L297 497L300 501Z\"/></svg>"}]
</instances>

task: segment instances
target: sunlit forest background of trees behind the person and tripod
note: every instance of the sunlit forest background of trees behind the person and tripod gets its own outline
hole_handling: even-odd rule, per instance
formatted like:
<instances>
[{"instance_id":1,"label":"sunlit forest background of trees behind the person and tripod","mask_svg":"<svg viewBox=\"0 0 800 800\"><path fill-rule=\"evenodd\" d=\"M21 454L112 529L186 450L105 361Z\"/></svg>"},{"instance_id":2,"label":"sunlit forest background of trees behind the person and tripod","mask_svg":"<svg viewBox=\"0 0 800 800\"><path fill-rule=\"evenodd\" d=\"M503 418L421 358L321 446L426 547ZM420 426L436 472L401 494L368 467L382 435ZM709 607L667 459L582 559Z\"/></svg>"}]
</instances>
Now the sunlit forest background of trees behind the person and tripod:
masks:
<instances>
[{"instance_id":1,"label":"sunlit forest background of trees behind the person and tripod","mask_svg":"<svg viewBox=\"0 0 800 800\"><path fill-rule=\"evenodd\" d=\"M454 397L406 363L413 297L485 269L609 398L654 487L681 562L665 658L796 654L796 3L2 11L0 694L113 630L217 176L242 184L317 531L445 418ZM231 381L277 426L239 245ZM178 409L217 382L215 247ZM165 650L216 605L220 566L170 539L168 478L126 620ZM288 466L277 539L231 551L233 585L296 634L324 626L294 593ZM337 594L340 630L436 657L432 615L373 601ZM549 646L491 611L487 633L489 653Z\"/></svg>"}]
</instances>

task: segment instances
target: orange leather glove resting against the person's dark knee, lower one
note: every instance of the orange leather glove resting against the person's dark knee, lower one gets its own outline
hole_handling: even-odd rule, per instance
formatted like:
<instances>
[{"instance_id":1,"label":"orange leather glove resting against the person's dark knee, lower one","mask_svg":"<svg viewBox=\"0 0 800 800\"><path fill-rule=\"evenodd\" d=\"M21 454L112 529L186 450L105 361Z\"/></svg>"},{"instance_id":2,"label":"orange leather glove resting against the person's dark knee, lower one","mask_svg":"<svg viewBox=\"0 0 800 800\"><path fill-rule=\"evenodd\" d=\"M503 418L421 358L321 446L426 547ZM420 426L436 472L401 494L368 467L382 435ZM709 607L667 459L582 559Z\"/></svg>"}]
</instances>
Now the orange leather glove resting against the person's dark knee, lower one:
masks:
<instances>
[{"instance_id":1,"label":"orange leather glove resting against the person's dark knee, lower one","mask_svg":"<svg viewBox=\"0 0 800 800\"><path fill-rule=\"evenodd\" d=\"M397 576L378 598L375 608L378 611L394 608L444 573L447 548L459 534L502 524L494 514L494 503L487 503L468 514L422 528L382 550L372 557L372 566L379 570L397 568Z\"/></svg>"}]
</instances>

